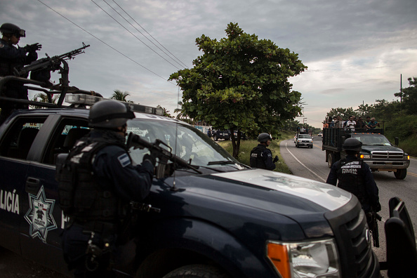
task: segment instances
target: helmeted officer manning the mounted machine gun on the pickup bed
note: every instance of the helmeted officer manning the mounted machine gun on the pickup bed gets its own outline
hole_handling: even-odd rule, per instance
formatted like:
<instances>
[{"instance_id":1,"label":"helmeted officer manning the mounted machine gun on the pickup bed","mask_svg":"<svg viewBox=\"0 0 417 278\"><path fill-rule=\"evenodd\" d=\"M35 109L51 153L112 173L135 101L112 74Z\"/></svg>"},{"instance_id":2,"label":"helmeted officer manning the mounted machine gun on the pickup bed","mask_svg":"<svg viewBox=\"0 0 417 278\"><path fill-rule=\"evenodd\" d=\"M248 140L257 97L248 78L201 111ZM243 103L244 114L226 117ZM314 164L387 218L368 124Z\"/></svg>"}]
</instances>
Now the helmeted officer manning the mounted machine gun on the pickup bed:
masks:
<instances>
[{"instance_id":1,"label":"helmeted officer manning the mounted machine gun on the pickup bed","mask_svg":"<svg viewBox=\"0 0 417 278\"><path fill-rule=\"evenodd\" d=\"M2 37L0 39L0 77L15 75L14 69L29 65L37 60L37 51L41 49L40 44L16 47L20 37L25 37L25 30L11 23L4 23L0 27ZM27 76L24 76L25 78ZM8 98L21 98L27 100L27 88L18 81L8 81L6 89L1 93ZM11 102L0 102L1 117L0 124L15 109L27 109L27 105Z\"/></svg>"}]
</instances>

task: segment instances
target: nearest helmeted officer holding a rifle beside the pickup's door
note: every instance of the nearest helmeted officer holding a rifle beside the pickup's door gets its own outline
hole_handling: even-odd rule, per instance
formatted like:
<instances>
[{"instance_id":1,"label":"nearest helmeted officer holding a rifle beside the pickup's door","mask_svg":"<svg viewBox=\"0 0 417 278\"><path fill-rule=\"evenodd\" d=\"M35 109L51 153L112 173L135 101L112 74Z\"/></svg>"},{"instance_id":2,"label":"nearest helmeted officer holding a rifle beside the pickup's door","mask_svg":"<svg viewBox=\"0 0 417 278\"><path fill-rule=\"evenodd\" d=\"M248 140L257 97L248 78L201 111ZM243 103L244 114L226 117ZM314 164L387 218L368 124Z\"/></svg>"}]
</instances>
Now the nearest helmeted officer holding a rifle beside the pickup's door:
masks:
<instances>
[{"instance_id":1,"label":"nearest helmeted officer holding a rifle beside the pickup's door","mask_svg":"<svg viewBox=\"0 0 417 278\"><path fill-rule=\"evenodd\" d=\"M88 118L94 129L57 164L60 206L70 219L62 249L74 277L113 276L128 204L150 192L156 159L145 154L133 166L125 145L126 121L134 117L116 100L96 102Z\"/></svg>"}]
</instances>

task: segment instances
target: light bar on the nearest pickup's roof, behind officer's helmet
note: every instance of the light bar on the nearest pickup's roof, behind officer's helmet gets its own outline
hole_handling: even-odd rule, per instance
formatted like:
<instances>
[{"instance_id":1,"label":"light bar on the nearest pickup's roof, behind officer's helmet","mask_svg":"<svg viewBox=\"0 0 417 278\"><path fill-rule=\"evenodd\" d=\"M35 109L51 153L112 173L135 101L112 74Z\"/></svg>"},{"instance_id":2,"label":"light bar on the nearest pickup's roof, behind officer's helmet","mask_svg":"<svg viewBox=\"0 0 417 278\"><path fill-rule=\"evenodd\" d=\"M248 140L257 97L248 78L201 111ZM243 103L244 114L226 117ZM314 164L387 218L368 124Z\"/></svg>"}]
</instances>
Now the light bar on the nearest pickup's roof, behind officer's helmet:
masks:
<instances>
[{"instance_id":1,"label":"light bar on the nearest pickup's roof, behind officer's helmet","mask_svg":"<svg viewBox=\"0 0 417 278\"><path fill-rule=\"evenodd\" d=\"M100 98L94 95L83 95L83 94L67 94L65 95L65 102L71 104L78 104L78 105L93 105L95 102L100 100L109 100L109 98ZM117 100L119 101L119 100ZM164 115L164 110L161 108L150 107L146 105L138 105L135 103L119 101L124 105L128 105L133 112L143 112L147 114L154 114L154 115Z\"/></svg>"}]
</instances>

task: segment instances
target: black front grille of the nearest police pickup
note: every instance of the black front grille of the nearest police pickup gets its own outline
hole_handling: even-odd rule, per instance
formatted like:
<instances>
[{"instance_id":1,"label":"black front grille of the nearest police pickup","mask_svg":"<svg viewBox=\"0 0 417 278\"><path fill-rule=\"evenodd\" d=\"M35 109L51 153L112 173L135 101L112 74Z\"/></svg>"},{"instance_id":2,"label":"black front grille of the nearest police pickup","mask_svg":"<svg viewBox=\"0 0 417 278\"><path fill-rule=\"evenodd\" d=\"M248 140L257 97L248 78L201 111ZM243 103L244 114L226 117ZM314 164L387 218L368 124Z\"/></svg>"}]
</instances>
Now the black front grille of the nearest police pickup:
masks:
<instances>
[{"instance_id":1,"label":"black front grille of the nearest police pickup","mask_svg":"<svg viewBox=\"0 0 417 278\"><path fill-rule=\"evenodd\" d=\"M346 206L326 213L326 218L338 245L343 277L370 277L377 262L359 201L352 198Z\"/></svg>"}]
</instances>

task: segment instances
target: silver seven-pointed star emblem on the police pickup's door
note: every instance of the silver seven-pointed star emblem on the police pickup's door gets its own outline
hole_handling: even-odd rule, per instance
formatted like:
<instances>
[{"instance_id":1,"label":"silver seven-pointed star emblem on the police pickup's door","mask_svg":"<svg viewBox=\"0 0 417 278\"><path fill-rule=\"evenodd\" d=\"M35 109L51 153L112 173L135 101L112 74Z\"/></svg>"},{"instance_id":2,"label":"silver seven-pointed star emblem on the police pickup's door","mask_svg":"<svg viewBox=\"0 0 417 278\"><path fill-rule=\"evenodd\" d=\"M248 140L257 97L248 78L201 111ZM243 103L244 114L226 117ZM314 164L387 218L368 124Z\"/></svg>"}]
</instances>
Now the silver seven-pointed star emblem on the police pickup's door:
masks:
<instances>
[{"instance_id":1,"label":"silver seven-pointed star emblem on the police pickup's door","mask_svg":"<svg viewBox=\"0 0 417 278\"><path fill-rule=\"evenodd\" d=\"M29 194L30 209L25 215L29 223L29 234L32 238L39 237L46 243L49 230L56 229L55 219L53 219L53 205L55 200L46 199L44 186L41 187L37 196Z\"/></svg>"}]
</instances>

